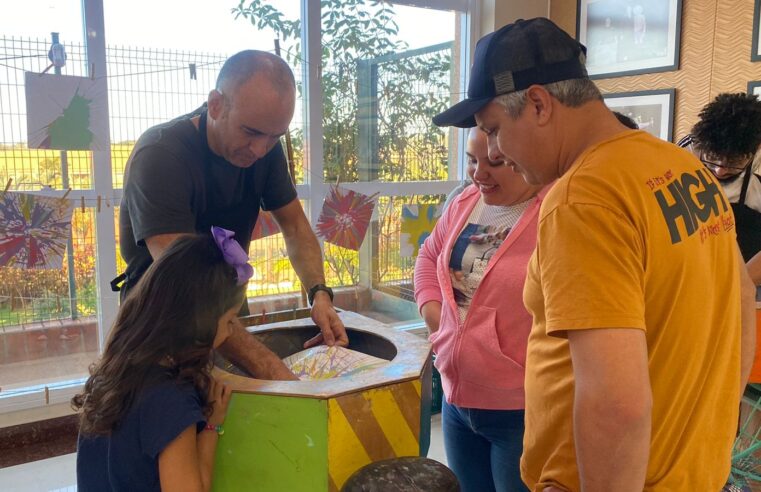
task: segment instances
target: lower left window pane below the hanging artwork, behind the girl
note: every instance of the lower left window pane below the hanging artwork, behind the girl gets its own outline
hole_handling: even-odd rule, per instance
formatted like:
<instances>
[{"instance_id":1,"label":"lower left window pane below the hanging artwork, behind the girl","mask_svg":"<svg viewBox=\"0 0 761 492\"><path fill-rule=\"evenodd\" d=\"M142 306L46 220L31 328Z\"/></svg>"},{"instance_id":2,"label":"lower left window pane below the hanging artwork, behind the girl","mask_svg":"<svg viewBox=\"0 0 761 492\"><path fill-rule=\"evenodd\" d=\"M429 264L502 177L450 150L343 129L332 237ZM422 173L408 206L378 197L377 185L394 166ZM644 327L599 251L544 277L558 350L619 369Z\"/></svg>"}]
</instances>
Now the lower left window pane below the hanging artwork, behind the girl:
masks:
<instances>
[{"instance_id":1,"label":"lower left window pane below the hanging artwork, behind the girl","mask_svg":"<svg viewBox=\"0 0 761 492\"><path fill-rule=\"evenodd\" d=\"M98 355L95 211L72 217L74 288L61 270L0 268L0 387L82 377Z\"/></svg>"}]
</instances>

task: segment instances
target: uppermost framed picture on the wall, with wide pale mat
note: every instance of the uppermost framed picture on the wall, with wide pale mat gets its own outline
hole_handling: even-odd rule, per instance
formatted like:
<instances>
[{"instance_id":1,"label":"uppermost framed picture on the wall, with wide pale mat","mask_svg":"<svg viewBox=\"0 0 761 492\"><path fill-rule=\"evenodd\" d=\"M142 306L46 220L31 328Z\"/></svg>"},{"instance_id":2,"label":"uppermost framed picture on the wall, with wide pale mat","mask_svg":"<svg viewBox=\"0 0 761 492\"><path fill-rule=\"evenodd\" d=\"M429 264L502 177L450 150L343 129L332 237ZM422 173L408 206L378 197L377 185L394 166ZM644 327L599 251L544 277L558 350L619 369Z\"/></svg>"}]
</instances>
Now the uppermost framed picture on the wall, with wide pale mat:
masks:
<instances>
[{"instance_id":1,"label":"uppermost framed picture on the wall, with wide pale mat","mask_svg":"<svg viewBox=\"0 0 761 492\"><path fill-rule=\"evenodd\" d=\"M761 1L761 0L759 0ZM591 78L679 68L682 0L577 0Z\"/></svg>"}]
</instances>

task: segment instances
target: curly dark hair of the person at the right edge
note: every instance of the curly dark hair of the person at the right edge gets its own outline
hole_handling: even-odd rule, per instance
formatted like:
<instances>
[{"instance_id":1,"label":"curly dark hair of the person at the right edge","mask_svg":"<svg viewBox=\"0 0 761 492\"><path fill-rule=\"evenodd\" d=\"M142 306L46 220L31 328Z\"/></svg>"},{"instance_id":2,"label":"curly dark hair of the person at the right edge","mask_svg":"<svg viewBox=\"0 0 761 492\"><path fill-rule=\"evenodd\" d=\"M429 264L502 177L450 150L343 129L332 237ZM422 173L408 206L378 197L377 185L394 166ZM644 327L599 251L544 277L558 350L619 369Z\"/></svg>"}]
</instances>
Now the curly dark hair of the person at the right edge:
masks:
<instances>
[{"instance_id":1,"label":"curly dark hair of the person at the right edge","mask_svg":"<svg viewBox=\"0 0 761 492\"><path fill-rule=\"evenodd\" d=\"M738 158L761 144L761 101L752 94L719 94L699 116L692 136L708 154Z\"/></svg>"}]
</instances>

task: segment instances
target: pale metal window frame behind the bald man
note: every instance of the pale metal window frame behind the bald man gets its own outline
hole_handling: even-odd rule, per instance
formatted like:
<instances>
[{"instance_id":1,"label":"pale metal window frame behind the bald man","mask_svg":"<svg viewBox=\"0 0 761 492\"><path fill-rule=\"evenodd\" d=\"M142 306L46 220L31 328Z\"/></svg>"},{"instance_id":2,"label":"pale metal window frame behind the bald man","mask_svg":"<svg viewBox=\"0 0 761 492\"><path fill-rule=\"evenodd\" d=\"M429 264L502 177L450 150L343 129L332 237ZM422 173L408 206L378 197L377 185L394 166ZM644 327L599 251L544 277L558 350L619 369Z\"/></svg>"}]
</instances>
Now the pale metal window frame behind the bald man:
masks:
<instances>
[{"instance_id":1,"label":"pale metal window frame behind the bald man","mask_svg":"<svg viewBox=\"0 0 761 492\"><path fill-rule=\"evenodd\" d=\"M469 76L468 67L477 37L477 21L479 18L478 0L392 0L392 4L432 8L439 10L456 10L461 16L459 28L460 45L459 59L461 60L460 87L467 87ZM86 48L87 66L94 68L96 76L105 75L106 44L103 0L82 0L82 27ZM321 66L321 8L320 2L301 0L301 39L302 53L307 63L302 64L300 74L305 88L304 122L304 173L305 182L296 186L298 197L307 203L307 216L312 224L317 223L321 204L329 190L329 183L324 182L323 168L323 131L322 131L322 84L320 79ZM312 68L309 68L312 67ZM110 125L110 119L109 119ZM110 129L106 128L110 134ZM450 130L450 141L457 142L450 148L456 148L450 154L450 169L448 181L412 181L412 182L353 182L342 186L364 194L378 193L380 196L404 197L421 194L447 194L465 176L465 141L466 132L460 129ZM96 151L92 153L93 187L85 190L74 190L68 196L79 202L84 199L86 207L92 208L97 198L108 197L114 203L120 202L122 189L114 188L112 176L111 151ZM319 181L314 176L320 177ZM61 190L44 190L35 192L43 196L61 196ZM377 215L377 212L376 214ZM119 306L118 293L112 292L110 281L117 275L116 263L116 224L112 213L96 213L96 286L97 286L97 323L100 350L105 341ZM372 250L370 241L360 249L360 281L359 285L372 288ZM322 244L321 244L322 247ZM407 324L405 329L415 329L419 324ZM65 381L50 382L49 384L34 384L23 388L12 395L0 394L0 416L8 412L28 410L51 404L65 404L83 388L85 378L71 378ZM51 397L52 396L52 397Z\"/></svg>"}]
</instances>

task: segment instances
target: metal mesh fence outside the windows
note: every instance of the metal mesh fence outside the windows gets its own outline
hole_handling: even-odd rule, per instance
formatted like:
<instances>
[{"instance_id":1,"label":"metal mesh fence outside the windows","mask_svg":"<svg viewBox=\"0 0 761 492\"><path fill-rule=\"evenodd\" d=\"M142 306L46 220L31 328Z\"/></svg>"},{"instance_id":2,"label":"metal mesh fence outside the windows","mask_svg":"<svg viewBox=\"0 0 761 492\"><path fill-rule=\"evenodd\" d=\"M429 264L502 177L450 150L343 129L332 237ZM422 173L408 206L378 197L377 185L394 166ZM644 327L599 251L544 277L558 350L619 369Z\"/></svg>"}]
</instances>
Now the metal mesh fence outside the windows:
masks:
<instances>
[{"instance_id":1,"label":"metal mesh fence outside the windows","mask_svg":"<svg viewBox=\"0 0 761 492\"><path fill-rule=\"evenodd\" d=\"M0 183L12 178L12 190L44 190L45 187L60 190L68 180L69 186L74 189L91 189L93 172L90 152L26 147L24 72L41 72L47 67L49 45L50 40L47 39L0 37ZM67 63L63 74L86 76L88 69L84 46L66 43L65 49ZM447 134L432 127L430 117L449 102L452 49L451 43L448 43L364 60L352 66L326 69L325 74L338 70L345 71L348 76L353 72L355 80L351 92L340 95L346 104L339 101L334 106L337 113L331 116L354 118L351 128L326 130L352 135L343 143L326 139L326 158L333 155L328 150L331 142L348 145L346 150L350 157L349 160L342 157L340 162L326 162L326 181L335 180L338 169L343 169L342 179L347 180L446 179ZM114 188L123 185L126 161L137 137L152 125L200 106L208 90L214 86L225 59L223 54L107 47ZM294 70L299 73L298 65ZM300 100L301 96L293 124L296 129L293 136L298 182L303 181ZM358 113L352 116L349 114L352 111ZM365 121L357 120L357 114ZM327 118L326 124L329 124ZM68 164L66 177L62 174L62 157ZM366 160L362 161L364 158ZM395 252L398 251L400 227L401 208L398 204L430 203L431 200L440 200L440 197L379 201L381 218L374 228L374 235L367 238L376 242L376 249L381 255L379 269L373 274L376 286L411 284L414 260L402 258ZM76 207L72 226L74 254L70 263L68 259L64 260L65 268L61 271L20 272L0 268L0 327L95 312L94 205L88 202L84 212ZM101 213L118 213L117 204L112 205L113 211L104 206ZM114 220L118 221L118 215ZM255 285L252 284L249 289L250 295L299 290L300 285L287 259L282 236L253 242L251 256L257 274L253 280ZM357 283L358 254L326 245L325 257L326 275L332 285ZM121 270L124 265L120 258L117 261ZM69 285L68 264L72 265L74 272L73 285ZM14 280L20 277L23 277L23 282Z\"/></svg>"}]
</instances>

